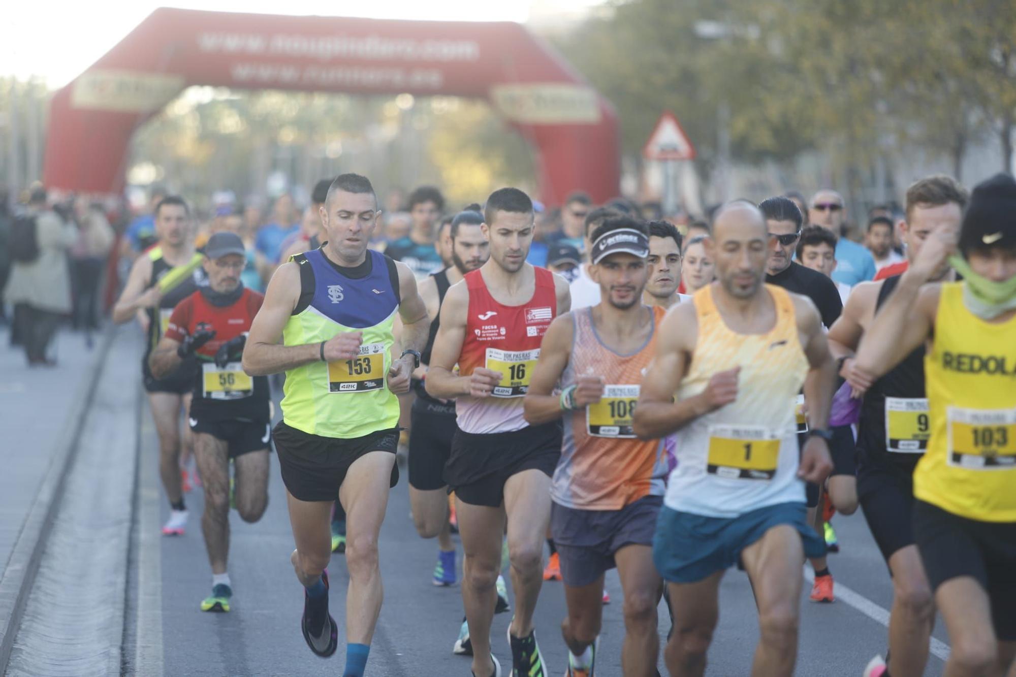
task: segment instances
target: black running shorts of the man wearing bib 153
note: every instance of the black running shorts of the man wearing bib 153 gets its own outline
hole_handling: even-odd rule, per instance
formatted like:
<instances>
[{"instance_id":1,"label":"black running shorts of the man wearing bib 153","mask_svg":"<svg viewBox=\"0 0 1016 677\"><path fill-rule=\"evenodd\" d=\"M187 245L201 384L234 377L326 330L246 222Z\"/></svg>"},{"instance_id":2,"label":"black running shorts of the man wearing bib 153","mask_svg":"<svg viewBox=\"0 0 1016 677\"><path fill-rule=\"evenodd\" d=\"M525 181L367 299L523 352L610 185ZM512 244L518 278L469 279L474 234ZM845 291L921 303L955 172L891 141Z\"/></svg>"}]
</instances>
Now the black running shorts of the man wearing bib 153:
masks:
<instances>
[{"instance_id":1,"label":"black running shorts of the man wearing bib 153","mask_svg":"<svg viewBox=\"0 0 1016 677\"><path fill-rule=\"evenodd\" d=\"M333 501L345 481L350 466L371 451L398 448L398 428L368 433L363 437L322 437L297 430L279 421L273 432L275 453L282 469L282 483L301 501ZM398 483L398 466L391 469L390 487Z\"/></svg>"}]
</instances>

